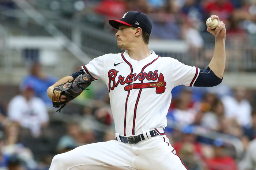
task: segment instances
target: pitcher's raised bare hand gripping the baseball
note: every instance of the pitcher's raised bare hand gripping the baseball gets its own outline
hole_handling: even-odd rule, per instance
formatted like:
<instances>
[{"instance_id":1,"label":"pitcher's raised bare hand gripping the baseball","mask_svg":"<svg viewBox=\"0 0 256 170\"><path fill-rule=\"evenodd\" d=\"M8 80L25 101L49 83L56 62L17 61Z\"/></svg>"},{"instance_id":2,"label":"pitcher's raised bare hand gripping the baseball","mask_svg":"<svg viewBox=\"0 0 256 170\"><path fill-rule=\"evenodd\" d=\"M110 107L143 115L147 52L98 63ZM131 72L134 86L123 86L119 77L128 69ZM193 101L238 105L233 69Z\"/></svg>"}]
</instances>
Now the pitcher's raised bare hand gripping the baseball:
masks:
<instances>
[{"instance_id":1,"label":"pitcher's raised bare hand gripping the baseball","mask_svg":"<svg viewBox=\"0 0 256 170\"><path fill-rule=\"evenodd\" d=\"M207 31L210 32L212 35L215 36L217 39L225 38L226 37L226 28L225 24L223 21L219 20L218 15L211 15L211 19L217 19L218 20L218 25L215 29L211 29L210 27L207 27Z\"/></svg>"}]
</instances>

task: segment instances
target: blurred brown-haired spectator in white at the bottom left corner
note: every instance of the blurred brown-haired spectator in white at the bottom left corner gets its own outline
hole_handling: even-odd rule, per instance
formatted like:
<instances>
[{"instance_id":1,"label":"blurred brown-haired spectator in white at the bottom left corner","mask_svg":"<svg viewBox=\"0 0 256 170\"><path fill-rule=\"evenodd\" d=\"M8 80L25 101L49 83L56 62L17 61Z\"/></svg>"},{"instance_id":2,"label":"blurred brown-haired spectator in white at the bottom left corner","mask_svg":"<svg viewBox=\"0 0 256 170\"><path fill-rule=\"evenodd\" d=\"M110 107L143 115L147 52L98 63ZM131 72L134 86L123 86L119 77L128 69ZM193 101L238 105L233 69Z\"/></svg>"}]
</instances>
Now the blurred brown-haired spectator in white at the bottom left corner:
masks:
<instances>
[{"instance_id":1,"label":"blurred brown-haired spectator in white at the bottom left corner","mask_svg":"<svg viewBox=\"0 0 256 170\"><path fill-rule=\"evenodd\" d=\"M1 149L2 153L9 157L15 156L19 160L23 161L27 167L35 168L37 163L33 159L31 150L25 147L22 143L19 143L19 138L19 123L10 122L10 124L5 127L5 145Z\"/></svg>"}]
</instances>

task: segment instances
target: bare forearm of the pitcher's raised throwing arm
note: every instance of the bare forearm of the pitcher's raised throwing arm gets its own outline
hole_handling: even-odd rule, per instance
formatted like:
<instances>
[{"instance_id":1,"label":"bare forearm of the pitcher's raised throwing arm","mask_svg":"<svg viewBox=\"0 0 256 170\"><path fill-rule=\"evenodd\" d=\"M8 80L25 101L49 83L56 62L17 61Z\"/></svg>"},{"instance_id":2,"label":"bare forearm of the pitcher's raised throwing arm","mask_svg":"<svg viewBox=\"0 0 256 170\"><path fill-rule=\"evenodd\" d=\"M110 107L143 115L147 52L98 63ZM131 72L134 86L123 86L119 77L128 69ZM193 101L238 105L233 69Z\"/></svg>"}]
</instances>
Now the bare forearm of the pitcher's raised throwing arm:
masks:
<instances>
[{"instance_id":1,"label":"bare forearm of the pitcher's raised throwing arm","mask_svg":"<svg viewBox=\"0 0 256 170\"><path fill-rule=\"evenodd\" d=\"M209 64L209 67L214 72L214 74L218 76L218 78L222 78L224 69L225 69L225 63L226 63L225 41L226 41L226 38L215 39L214 53L213 53L211 62Z\"/></svg>"}]
</instances>

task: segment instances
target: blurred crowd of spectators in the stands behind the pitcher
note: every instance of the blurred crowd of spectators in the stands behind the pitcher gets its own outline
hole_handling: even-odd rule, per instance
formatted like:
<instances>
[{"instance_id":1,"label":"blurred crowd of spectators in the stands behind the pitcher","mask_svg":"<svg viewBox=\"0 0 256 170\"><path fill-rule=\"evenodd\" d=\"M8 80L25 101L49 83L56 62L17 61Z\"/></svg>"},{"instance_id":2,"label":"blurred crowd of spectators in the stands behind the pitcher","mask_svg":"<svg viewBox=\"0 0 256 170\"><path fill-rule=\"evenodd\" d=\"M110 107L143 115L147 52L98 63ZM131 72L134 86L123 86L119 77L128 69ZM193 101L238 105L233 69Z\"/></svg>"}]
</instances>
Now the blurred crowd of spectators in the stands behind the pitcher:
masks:
<instances>
[{"instance_id":1,"label":"blurred crowd of spectators in the stands behind the pitcher","mask_svg":"<svg viewBox=\"0 0 256 170\"><path fill-rule=\"evenodd\" d=\"M90 8L105 17L104 23L110 17L120 19L125 11L142 11L153 21L152 38L185 39L195 54L204 46L200 32L210 14L226 23L227 39L248 40L256 33L251 26L256 21L253 0L96 2ZM0 4L15 8L10 1ZM73 13L74 17L83 15ZM90 92L56 113L46 96L46 89L56 80L35 63L20 86L14 87L19 94L4 102L7 91L0 89L0 170L46 170L55 154L114 139L108 91L94 91L90 86ZM230 88L225 83L211 88L178 86L172 98L165 132L189 170L256 169L255 90Z\"/></svg>"}]
</instances>

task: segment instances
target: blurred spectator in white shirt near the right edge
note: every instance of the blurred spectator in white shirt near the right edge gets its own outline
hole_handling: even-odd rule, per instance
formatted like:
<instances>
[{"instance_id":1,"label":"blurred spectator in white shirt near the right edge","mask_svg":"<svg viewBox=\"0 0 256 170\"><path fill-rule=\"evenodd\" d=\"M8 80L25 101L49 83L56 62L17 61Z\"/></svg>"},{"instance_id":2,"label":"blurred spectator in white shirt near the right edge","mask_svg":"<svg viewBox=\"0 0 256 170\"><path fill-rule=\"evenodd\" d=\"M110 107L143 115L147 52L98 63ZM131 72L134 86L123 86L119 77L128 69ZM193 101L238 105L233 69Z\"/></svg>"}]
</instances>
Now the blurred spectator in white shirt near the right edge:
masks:
<instances>
[{"instance_id":1,"label":"blurred spectator in white shirt near the right edge","mask_svg":"<svg viewBox=\"0 0 256 170\"><path fill-rule=\"evenodd\" d=\"M235 119L241 126L251 126L251 104L246 96L246 89L237 87L235 89L235 96L224 96L222 102L225 108L225 116L228 119Z\"/></svg>"}]
</instances>

